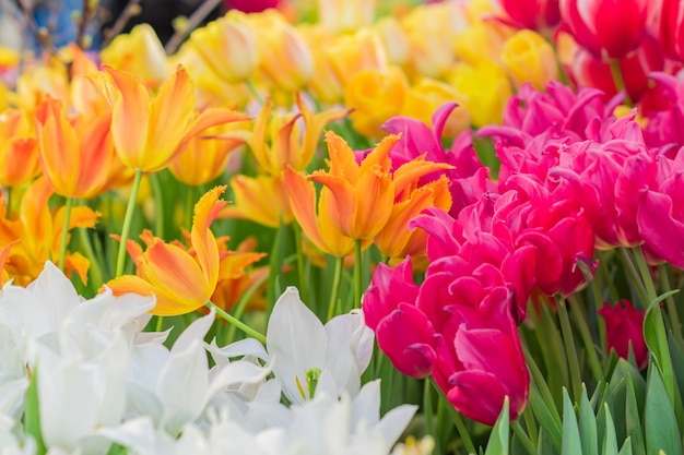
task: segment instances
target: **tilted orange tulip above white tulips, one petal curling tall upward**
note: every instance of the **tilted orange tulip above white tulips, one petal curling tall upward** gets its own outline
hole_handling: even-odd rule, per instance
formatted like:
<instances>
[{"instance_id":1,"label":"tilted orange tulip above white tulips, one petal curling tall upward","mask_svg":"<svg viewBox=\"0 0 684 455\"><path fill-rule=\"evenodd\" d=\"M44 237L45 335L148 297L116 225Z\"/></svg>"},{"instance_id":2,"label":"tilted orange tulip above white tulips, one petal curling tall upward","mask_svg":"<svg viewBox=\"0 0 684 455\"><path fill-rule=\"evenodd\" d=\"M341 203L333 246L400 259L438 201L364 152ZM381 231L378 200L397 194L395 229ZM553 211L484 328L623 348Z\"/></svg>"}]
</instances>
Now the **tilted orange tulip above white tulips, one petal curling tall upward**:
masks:
<instances>
[{"instance_id":1,"label":"tilted orange tulip above white tulips, one petal curling tall upward","mask_svg":"<svg viewBox=\"0 0 684 455\"><path fill-rule=\"evenodd\" d=\"M148 247L144 252L129 240L127 249L135 261L138 275L110 280L107 286L114 294L154 295L156 306L150 312L157 315L185 314L202 307L219 282L219 243L209 227L226 204L219 199L225 190L225 185L216 187L196 204L190 232L192 253L177 243L165 243L150 231L141 236Z\"/></svg>"}]
</instances>

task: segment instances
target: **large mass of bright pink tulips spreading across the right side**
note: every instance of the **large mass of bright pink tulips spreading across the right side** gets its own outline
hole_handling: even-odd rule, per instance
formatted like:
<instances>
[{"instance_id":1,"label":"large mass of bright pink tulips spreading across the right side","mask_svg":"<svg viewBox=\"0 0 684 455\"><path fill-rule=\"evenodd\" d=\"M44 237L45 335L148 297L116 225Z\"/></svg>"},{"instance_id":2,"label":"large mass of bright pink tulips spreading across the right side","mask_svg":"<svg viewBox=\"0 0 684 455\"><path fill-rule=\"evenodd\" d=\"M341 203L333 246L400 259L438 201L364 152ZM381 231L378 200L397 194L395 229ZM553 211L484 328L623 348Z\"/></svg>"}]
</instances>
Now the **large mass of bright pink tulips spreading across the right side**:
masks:
<instances>
[{"instance_id":1,"label":"large mass of bright pink tulips spreading across the right side","mask_svg":"<svg viewBox=\"0 0 684 455\"><path fill-rule=\"evenodd\" d=\"M394 166L425 154L455 167L440 171L451 181L450 213L428 208L409 225L427 234L424 280L414 282L411 258L380 264L364 297L366 322L400 371L432 375L467 417L493 424L508 396L516 418L529 393L517 325L531 298L581 289L597 249L640 246L652 264L684 268L684 107L674 95L681 84L663 80L672 107L646 130L636 113L613 115L618 97L605 104L593 88L523 86L504 124L477 133L494 142L497 181L469 132L441 146L455 105L435 112L434 131L405 118L386 124L402 133Z\"/></svg>"}]
</instances>

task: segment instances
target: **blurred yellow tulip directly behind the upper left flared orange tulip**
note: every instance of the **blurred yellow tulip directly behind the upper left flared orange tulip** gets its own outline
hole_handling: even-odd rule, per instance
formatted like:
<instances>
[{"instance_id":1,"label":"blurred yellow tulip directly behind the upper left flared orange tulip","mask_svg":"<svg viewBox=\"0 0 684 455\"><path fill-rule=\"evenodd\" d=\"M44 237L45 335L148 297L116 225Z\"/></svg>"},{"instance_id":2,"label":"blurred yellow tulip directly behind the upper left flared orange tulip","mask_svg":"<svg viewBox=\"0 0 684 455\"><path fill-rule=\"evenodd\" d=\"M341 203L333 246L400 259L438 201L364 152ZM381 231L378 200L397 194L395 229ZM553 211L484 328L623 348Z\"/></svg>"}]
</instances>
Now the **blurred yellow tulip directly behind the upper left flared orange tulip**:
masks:
<instances>
[{"instance_id":1,"label":"blurred yellow tulip directly behind the upper left flared orange tulip","mask_svg":"<svg viewBox=\"0 0 684 455\"><path fill-rule=\"evenodd\" d=\"M99 53L102 62L134 74L150 87L158 86L169 74L164 46L149 24L135 25L117 35Z\"/></svg>"}]
</instances>

